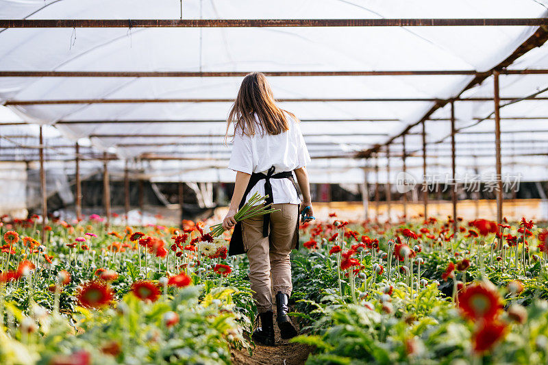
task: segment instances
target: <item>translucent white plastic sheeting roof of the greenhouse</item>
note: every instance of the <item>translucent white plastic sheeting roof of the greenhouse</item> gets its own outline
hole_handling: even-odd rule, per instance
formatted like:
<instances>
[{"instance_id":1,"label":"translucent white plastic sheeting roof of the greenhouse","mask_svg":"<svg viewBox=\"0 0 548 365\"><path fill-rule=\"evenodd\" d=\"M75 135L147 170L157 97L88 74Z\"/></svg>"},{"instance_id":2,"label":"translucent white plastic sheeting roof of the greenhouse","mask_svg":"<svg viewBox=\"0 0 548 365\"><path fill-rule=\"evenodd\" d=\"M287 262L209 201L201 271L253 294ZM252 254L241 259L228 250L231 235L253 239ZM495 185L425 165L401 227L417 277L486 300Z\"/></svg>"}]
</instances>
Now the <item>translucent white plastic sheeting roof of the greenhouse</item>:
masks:
<instances>
[{"instance_id":1,"label":"translucent white plastic sheeting roof of the greenhouse","mask_svg":"<svg viewBox=\"0 0 548 365\"><path fill-rule=\"evenodd\" d=\"M547 1L538 0L390 0L342 1L183 1L183 18L537 18L547 14ZM0 0L0 18L179 18L179 1L162 0ZM128 22L129 24L129 22ZM537 27L284 27L284 28L53 28L0 30L0 71L489 71L530 37ZM547 47L534 49L514 68L548 68ZM512 67L510 67L512 68ZM425 98L455 97L471 75L270 77L278 99L304 98ZM0 101L58 99L232 99L241 77L0 77ZM548 84L548 75L501 75L502 97L524 97ZM462 97L493 97L487 79ZM351 160L354 151L382 143L416 123L432 101L284 102L303 119L302 129L313 160L312 182L361 182L364 162ZM546 125L546 101L521 101L501 109L501 116L546 119L503 120L503 156L521 149L548 152L548 133L504 134ZM225 170L229 148L223 147L222 122L231 106L210 103L93 103L10 105L23 120L55 125L65 138L90 138L99 149L120 158L142 153L188 158L145 163L155 181L230 181ZM493 112L492 102L456 102L457 127ZM447 118L449 109L432 118ZM317 120L332 121L317 121ZM348 121L371 119L382 121ZM116 123L116 121L156 121ZM202 121L158 123L157 121ZM389 120L389 121L387 121ZM112 123L71 123L111 121ZM548 126L545 127L548 129ZM0 127L0 135L5 127ZM463 131L493 131L484 121ZM420 132L420 127L412 129ZM427 122L428 142L449 134L447 121ZM105 135L131 134L127 137ZM139 137L166 134L174 136ZM182 138L188 134L192 137ZM324 134L321 136L320 134ZM337 136L337 134L340 134ZM203 137L200 137L203 136ZM534 144L515 142L538 140ZM513 140L512 140L513 139ZM493 135L458 135L458 151L493 147ZM396 140L395 142L398 142ZM445 140L447 147L447 139ZM421 148L421 136L406 136L407 150ZM513 143L513 150L507 148ZM521 144L520 144L521 143ZM123 145L126 146L123 146ZM140 144L127 146L127 144ZM122 145L122 146L121 146ZM443 146L443 144L440 144ZM429 145L429 151L436 151ZM534 147L534 148L533 148ZM440 147L441 149L442 147ZM398 147L393 147L398 151ZM505 152L506 151L506 152ZM480 152L478 152L480 153ZM481 154L480 153L480 154ZM506 153L506 154L505 154ZM448 171L447 151L429 158L432 169ZM208 160L203 161L206 158ZM200 160L192 160L200 159ZM548 179L546 156L519 158L531 164L527 178ZM493 157L477 158L479 171L494 171ZM379 159L386 165L386 160ZM471 158L458 158L460 169ZM508 164L507 164L508 163ZM504 168L525 172L525 163ZM213 166L211 166L213 165ZM395 162L397 168L397 162ZM84 164L85 166L85 164ZM421 176L420 158L408 166ZM416 166L416 168L414 168ZM474 164L474 166L476 166ZM513 166L513 167L512 167ZM396 170L393 170L396 171ZM383 179L381 176L380 179ZM386 177L385 177L386 179Z\"/></svg>"}]
</instances>

